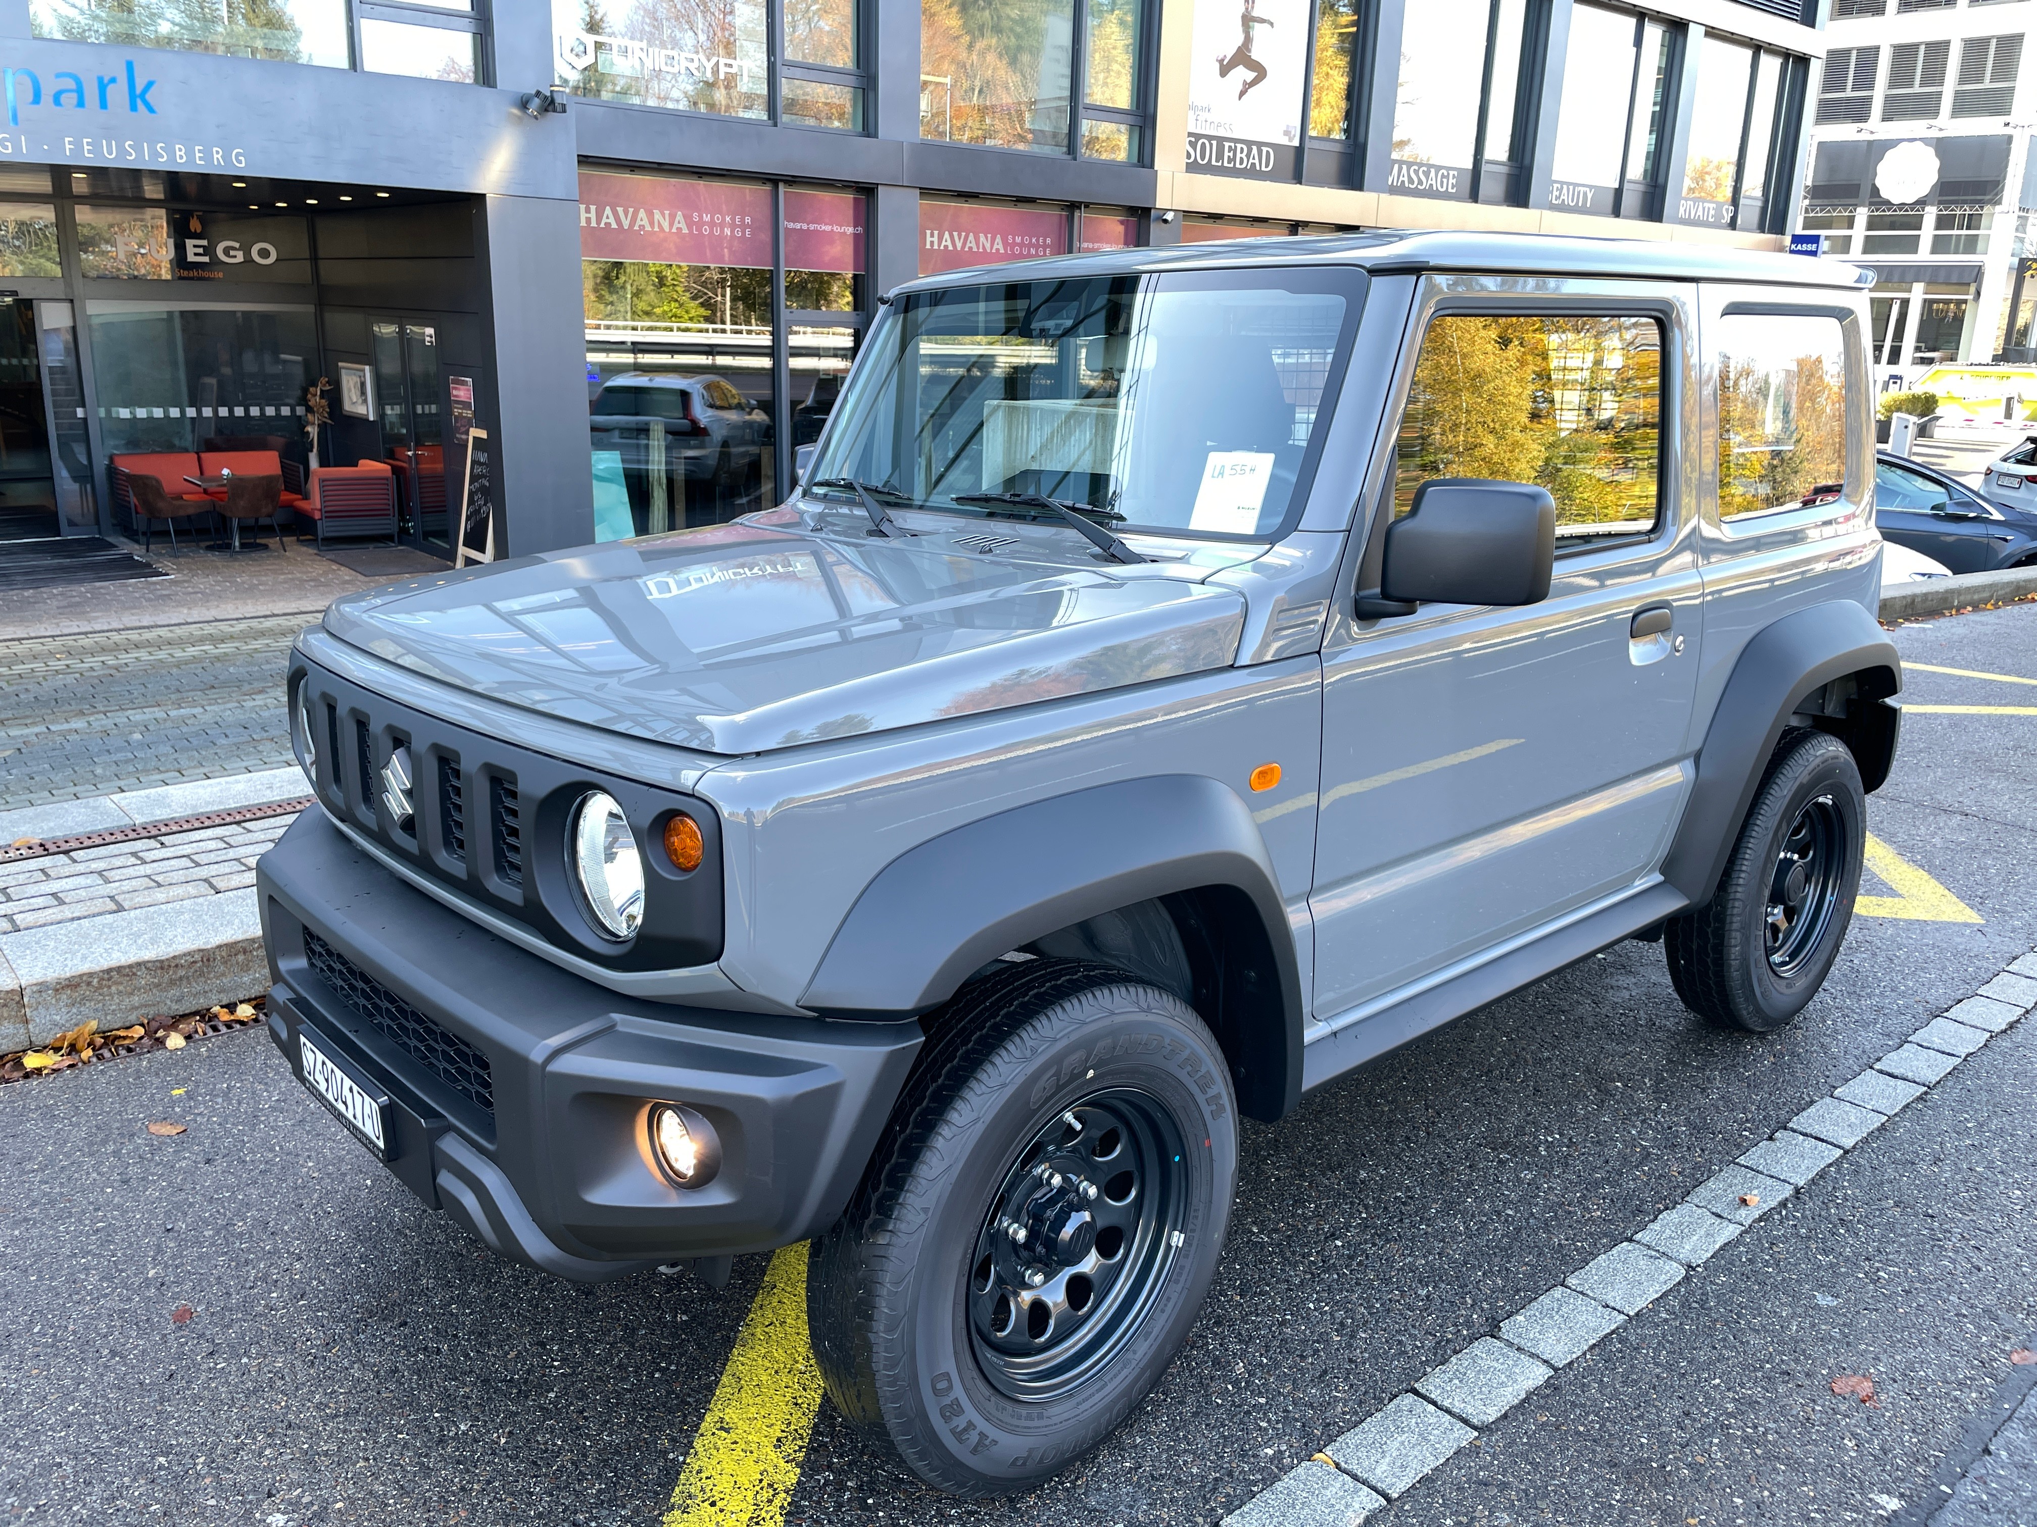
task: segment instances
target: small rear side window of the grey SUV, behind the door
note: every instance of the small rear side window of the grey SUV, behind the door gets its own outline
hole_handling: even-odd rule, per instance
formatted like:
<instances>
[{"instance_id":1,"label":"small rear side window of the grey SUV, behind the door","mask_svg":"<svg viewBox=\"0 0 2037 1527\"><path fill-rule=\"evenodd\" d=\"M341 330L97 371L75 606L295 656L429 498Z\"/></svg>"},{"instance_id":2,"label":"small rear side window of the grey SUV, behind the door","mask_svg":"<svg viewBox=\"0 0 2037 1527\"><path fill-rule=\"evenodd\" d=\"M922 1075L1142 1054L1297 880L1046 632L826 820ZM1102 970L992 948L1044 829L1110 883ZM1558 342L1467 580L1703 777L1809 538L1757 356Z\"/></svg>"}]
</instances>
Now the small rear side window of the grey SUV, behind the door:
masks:
<instances>
[{"instance_id":1,"label":"small rear side window of the grey SUV, behind the door","mask_svg":"<svg viewBox=\"0 0 2037 1527\"><path fill-rule=\"evenodd\" d=\"M1837 318L1719 320L1719 519L1788 509L1846 478L1846 338Z\"/></svg>"}]
</instances>

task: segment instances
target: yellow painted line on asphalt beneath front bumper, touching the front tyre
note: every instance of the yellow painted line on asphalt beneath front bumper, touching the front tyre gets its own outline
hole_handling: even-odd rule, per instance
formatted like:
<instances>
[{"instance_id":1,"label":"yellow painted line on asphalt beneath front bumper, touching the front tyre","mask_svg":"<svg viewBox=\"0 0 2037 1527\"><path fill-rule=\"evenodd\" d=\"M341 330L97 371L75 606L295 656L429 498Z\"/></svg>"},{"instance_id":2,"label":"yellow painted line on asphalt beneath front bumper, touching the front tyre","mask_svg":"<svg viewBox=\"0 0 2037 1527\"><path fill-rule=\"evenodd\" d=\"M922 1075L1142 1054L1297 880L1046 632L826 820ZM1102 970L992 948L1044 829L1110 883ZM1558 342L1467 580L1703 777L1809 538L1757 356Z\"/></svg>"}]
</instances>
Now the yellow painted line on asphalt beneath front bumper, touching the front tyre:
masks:
<instances>
[{"instance_id":1,"label":"yellow painted line on asphalt beneath front bumper, touching the front tyre","mask_svg":"<svg viewBox=\"0 0 2037 1527\"><path fill-rule=\"evenodd\" d=\"M801 1242L770 1258L662 1527L778 1527L819 1409Z\"/></svg>"}]
</instances>

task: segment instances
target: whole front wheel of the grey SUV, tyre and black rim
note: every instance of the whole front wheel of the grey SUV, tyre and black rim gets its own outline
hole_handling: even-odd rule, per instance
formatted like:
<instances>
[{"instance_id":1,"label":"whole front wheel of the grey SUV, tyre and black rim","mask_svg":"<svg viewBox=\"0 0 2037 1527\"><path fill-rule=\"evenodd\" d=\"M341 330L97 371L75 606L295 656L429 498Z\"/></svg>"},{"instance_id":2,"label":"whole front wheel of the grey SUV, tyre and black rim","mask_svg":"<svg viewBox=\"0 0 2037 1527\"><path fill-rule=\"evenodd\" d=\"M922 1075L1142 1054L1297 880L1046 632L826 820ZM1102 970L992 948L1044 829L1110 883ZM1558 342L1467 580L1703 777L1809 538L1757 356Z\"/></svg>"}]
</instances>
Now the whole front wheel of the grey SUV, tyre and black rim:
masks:
<instances>
[{"instance_id":1,"label":"whole front wheel of the grey SUV, tyre and black rim","mask_svg":"<svg viewBox=\"0 0 2037 1527\"><path fill-rule=\"evenodd\" d=\"M972 981L809 1264L835 1409L957 1494L1082 1458L1188 1338L1236 1156L1228 1065L1179 998L1061 959Z\"/></svg>"}]
</instances>

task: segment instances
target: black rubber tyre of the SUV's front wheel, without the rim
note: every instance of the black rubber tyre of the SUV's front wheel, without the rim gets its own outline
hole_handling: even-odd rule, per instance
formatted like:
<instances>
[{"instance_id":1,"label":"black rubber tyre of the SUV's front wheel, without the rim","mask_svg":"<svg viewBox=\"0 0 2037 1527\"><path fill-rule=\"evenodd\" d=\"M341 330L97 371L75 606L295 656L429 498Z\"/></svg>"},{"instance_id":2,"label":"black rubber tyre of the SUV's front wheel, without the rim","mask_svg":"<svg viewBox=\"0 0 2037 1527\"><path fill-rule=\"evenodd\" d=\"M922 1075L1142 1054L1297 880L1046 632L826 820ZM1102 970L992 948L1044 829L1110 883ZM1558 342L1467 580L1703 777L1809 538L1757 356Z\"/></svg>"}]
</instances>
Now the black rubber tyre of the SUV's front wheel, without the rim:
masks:
<instances>
[{"instance_id":1,"label":"black rubber tyre of the SUV's front wheel, without the rim","mask_svg":"<svg viewBox=\"0 0 2037 1527\"><path fill-rule=\"evenodd\" d=\"M1141 1285L1145 1315L1120 1327L1094 1372L1067 1393L1014 1399L972 1346L980 1238L1029 1142L1106 1095L1149 1097L1175 1122L1169 1201L1181 1234L1167 1234L1165 1268ZM1222 1254L1234 1183L1228 1067L1179 998L1057 959L970 983L937 1014L862 1185L815 1242L807 1325L829 1399L937 1488L992 1496L1037 1484L1108 1437L1181 1348ZM1106 1303L1096 1309L1102 1317Z\"/></svg>"}]
</instances>

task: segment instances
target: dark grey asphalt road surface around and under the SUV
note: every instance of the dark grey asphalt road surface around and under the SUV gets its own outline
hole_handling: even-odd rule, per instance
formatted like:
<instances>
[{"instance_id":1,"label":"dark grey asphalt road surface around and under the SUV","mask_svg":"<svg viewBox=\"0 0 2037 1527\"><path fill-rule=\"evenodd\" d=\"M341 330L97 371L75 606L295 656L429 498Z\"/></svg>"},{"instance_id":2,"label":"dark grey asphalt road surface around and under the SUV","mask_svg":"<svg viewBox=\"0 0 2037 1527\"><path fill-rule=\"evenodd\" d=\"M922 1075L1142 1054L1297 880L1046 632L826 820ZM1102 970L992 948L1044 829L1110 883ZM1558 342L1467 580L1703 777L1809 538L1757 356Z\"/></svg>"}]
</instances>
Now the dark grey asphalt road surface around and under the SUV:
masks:
<instances>
[{"instance_id":1,"label":"dark grey asphalt road surface around and under the SUV","mask_svg":"<svg viewBox=\"0 0 2037 1527\"><path fill-rule=\"evenodd\" d=\"M2037 680L2033 607L1896 641ZM1905 698L2037 688L1913 670ZM1978 922L1856 920L1768 1038L1693 1020L1642 943L1432 1034L1247 1128L1194 1340L1090 1460L957 1503L823 1403L782 1519L1214 1523L2037 945L2033 743L2037 715L1915 713L1870 802ZM1373 1521L2037 1521L2037 1370L2008 1358L2037 1332L2033 1075L2037 1018ZM715 1293L503 1264L263 1034L0 1089L0 1181L8 1523L658 1523L766 1268Z\"/></svg>"}]
</instances>

